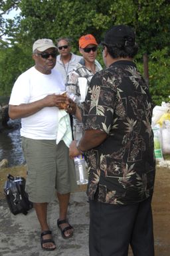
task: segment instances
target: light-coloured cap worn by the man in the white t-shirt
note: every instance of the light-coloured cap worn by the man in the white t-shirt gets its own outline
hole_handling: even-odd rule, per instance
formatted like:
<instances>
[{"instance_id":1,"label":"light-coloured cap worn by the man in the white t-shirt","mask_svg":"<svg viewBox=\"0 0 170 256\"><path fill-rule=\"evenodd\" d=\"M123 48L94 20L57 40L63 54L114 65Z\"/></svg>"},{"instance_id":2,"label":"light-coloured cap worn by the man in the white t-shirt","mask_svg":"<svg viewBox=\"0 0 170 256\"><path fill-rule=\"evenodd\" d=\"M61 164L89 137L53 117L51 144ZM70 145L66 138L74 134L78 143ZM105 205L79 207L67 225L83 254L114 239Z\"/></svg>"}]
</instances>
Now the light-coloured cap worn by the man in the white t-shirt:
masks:
<instances>
[{"instance_id":1,"label":"light-coloured cap worn by the man in the white t-shirt","mask_svg":"<svg viewBox=\"0 0 170 256\"><path fill-rule=\"evenodd\" d=\"M49 48L57 48L51 39L38 39L33 44L33 52L37 49L40 52L45 51Z\"/></svg>"}]
</instances>

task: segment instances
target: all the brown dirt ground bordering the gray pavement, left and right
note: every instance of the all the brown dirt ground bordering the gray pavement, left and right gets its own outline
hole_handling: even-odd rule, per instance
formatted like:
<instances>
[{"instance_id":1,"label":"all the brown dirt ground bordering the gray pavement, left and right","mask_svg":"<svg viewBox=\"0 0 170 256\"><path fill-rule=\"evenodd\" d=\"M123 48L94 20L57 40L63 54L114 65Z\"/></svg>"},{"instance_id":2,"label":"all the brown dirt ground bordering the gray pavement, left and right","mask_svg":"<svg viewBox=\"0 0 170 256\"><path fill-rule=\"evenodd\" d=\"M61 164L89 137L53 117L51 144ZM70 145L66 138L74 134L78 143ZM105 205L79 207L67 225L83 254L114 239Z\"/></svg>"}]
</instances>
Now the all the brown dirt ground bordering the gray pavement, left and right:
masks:
<instances>
[{"instance_id":1,"label":"all the brown dirt ground bordering the gray pavement, left and right","mask_svg":"<svg viewBox=\"0 0 170 256\"><path fill-rule=\"evenodd\" d=\"M0 170L0 199L5 196L3 187L7 174L14 176L25 176L25 166L4 168ZM80 187L84 191L85 187ZM170 255L170 168L157 166L155 179L155 192L153 194L153 223L155 235L155 256ZM1 201L1 200L0 200ZM132 253L129 251L129 256Z\"/></svg>"}]
</instances>

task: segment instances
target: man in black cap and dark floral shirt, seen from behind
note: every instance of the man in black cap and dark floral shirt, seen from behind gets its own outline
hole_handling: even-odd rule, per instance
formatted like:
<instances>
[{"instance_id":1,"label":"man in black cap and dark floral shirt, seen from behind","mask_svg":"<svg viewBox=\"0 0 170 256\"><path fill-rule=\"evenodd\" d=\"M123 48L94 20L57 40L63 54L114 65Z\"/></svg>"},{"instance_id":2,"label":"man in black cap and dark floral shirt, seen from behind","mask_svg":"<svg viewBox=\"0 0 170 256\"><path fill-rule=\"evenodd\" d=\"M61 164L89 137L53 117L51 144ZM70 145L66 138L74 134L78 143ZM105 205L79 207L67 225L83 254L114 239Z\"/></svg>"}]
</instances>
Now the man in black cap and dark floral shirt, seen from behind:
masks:
<instances>
[{"instance_id":1,"label":"man in black cap and dark floral shirt, seen from behind","mask_svg":"<svg viewBox=\"0 0 170 256\"><path fill-rule=\"evenodd\" d=\"M86 152L90 256L153 256L151 198L155 156L149 88L137 70L135 34L126 25L104 37L106 69L88 88L84 136L70 157Z\"/></svg>"}]
</instances>

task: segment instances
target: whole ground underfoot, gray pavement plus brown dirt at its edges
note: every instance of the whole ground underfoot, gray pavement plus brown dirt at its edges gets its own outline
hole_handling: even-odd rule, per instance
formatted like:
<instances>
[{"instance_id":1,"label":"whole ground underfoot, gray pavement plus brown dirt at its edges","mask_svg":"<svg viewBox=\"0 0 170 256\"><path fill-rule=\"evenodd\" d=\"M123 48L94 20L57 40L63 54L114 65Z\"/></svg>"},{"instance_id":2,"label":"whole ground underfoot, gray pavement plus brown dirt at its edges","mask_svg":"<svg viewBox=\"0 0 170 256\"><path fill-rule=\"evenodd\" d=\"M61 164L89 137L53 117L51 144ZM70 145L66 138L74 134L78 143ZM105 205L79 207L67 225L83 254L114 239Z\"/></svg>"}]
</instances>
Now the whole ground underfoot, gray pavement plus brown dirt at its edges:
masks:
<instances>
[{"instance_id":1,"label":"whole ground underfoot, gray pavement plus brown dirt at its edges","mask_svg":"<svg viewBox=\"0 0 170 256\"><path fill-rule=\"evenodd\" d=\"M12 168L11 174L24 175L25 167ZM72 193L68 211L70 224L74 226L74 236L62 239L56 227L58 202L48 207L48 222L57 249L42 251L39 223L34 209L28 215L13 215L3 195L3 186L9 169L0 170L0 255L1 256L88 256L89 210L85 187ZM155 233L155 256L170 255L170 169L157 167L155 193L153 195L153 221ZM129 249L129 256L131 256Z\"/></svg>"}]
</instances>

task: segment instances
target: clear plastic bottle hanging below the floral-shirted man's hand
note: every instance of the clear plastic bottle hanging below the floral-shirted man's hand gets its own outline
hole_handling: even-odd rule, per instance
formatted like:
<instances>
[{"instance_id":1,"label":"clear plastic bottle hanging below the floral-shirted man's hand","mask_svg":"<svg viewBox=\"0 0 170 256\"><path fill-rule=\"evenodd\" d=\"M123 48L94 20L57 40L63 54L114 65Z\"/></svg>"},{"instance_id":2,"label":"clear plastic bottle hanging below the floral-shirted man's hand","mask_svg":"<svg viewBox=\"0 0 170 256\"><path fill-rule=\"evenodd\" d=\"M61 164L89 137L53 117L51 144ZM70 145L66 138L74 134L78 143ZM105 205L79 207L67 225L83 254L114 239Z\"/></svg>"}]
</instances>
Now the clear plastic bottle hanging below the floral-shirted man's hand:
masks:
<instances>
[{"instance_id":1,"label":"clear plastic bottle hanging below the floral-shirted man's hand","mask_svg":"<svg viewBox=\"0 0 170 256\"><path fill-rule=\"evenodd\" d=\"M84 155L79 155L74 157L74 164L76 169L76 181L78 185L83 185L88 183L88 173L86 170L86 162Z\"/></svg>"}]
</instances>

